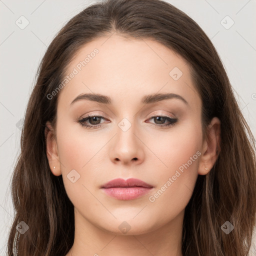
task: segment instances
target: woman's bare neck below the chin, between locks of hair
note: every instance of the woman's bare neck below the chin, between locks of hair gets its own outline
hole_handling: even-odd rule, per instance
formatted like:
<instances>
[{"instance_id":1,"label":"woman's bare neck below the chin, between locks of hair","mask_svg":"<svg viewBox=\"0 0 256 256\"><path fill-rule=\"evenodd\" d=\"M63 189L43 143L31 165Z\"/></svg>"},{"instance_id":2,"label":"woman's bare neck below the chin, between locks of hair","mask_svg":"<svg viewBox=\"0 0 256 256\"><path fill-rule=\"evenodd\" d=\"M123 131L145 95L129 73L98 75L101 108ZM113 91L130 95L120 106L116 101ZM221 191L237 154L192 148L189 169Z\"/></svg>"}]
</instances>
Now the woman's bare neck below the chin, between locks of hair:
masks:
<instances>
[{"instance_id":1,"label":"woman's bare neck below the chin, between locks of hair","mask_svg":"<svg viewBox=\"0 0 256 256\"><path fill-rule=\"evenodd\" d=\"M182 256L184 211L165 225L146 233L119 234L97 227L75 212L74 243L66 256Z\"/></svg>"}]
</instances>

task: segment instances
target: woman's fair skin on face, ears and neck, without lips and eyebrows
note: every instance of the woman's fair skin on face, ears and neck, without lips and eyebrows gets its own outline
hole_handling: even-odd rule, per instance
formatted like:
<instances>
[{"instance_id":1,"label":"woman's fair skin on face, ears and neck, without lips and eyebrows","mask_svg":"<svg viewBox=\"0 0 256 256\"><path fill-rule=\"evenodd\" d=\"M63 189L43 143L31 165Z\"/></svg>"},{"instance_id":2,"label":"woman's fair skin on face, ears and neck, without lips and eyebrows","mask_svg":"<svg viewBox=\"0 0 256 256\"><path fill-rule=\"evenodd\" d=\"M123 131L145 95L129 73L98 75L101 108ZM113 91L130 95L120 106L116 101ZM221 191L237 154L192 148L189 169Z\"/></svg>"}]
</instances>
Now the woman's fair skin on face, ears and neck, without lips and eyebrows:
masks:
<instances>
[{"instance_id":1,"label":"woman's fair skin on face, ears and neck, without lips and eyebrows","mask_svg":"<svg viewBox=\"0 0 256 256\"><path fill-rule=\"evenodd\" d=\"M207 174L217 158L220 121L211 120L207 139L202 140L201 99L188 63L159 42L119 34L99 37L75 54L66 73L94 48L99 52L57 95L56 129L47 122L45 130L49 166L54 175L62 175L74 205L75 237L66 255L180 256L184 209L197 175ZM182 71L177 80L169 75L175 66ZM81 99L70 105L81 93L100 93L113 102ZM140 102L153 93L176 93L188 105L177 98ZM100 122L100 127L88 129L76 122L92 113L103 118L86 123ZM150 114L175 117L178 122L160 127L168 119L157 121ZM131 125L126 131L118 126L123 118ZM197 151L197 159L149 201ZM67 177L72 169L80 175L74 183ZM153 188L136 199L118 200L100 189L118 177L138 178ZM118 228L123 221L130 227L126 233Z\"/></svg>"}]
</instances>

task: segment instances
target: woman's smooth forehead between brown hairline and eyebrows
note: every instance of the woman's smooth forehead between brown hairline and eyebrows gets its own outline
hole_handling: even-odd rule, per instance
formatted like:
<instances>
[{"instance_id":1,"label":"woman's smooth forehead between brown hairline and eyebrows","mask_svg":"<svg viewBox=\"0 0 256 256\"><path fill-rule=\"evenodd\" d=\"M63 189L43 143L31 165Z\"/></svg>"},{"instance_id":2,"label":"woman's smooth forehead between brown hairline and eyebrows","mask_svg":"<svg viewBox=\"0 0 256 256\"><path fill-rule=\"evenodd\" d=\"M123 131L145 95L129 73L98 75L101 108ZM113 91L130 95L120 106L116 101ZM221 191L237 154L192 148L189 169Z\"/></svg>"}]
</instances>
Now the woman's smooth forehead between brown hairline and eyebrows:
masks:
<instances>
[{"instance_id":1,"label":"woman's smooth forehead between brown hairline and eyebrows","mask_svg":"<svg viewBox=\"0 0 256 256\"><path fill-rule=\"evenodd\" d=\"M148 38L98 37L75 53L66 69L67 76L71 73L58 95L69 104L87 92L108 95L113 102L127 98L127 103L150 93L172 92L182 94L191 105L200 104L188 63Z\"/></svg>"}]
</instances>

